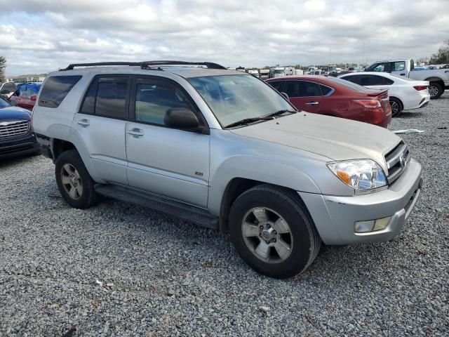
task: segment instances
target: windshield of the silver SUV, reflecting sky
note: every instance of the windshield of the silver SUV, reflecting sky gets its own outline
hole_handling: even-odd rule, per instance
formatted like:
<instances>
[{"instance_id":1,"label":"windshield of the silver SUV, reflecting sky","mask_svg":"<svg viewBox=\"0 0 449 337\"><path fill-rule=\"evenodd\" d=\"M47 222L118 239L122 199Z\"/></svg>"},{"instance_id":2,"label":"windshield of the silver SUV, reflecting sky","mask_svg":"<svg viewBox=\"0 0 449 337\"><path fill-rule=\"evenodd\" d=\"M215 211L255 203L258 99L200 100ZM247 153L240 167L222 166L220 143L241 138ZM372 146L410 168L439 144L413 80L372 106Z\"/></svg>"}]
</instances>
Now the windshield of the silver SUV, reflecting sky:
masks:
<instances>
[{"instance_id":1,"label":"windshield of the silver SUV, reflecting sky","mask_svg":"<svg viewBox=\"0 0 449 337\"><path fill-rule=\"evenodd\" d=\"M295 110L271 86L251 75L194 77L188 81L222 126L280 110Z\"/></svg>"}]
</instances>

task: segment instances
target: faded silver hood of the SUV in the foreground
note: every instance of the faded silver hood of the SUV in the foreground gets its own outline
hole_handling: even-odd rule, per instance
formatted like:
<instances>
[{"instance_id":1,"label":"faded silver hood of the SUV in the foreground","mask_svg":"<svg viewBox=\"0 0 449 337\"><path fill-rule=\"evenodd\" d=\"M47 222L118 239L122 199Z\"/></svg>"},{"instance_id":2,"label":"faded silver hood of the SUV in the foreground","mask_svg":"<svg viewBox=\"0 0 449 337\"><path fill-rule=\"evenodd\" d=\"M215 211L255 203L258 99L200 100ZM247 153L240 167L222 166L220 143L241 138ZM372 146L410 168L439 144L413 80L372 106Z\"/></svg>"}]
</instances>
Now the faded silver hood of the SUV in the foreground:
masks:
<instances>
[{"instance_id":1,"label":"faded silver hood of the SUV in the foreground","mask_svg":"<svg viewBox=\"0 0 449 337\"><path fill-rule=\"evenodd\" d=\"M384 154L401 142L401 138L380 126L304 112L236 128L232 132L314 152L335 161L370 158L384 171L387 171Z\"/></svg>"}]
</instances>

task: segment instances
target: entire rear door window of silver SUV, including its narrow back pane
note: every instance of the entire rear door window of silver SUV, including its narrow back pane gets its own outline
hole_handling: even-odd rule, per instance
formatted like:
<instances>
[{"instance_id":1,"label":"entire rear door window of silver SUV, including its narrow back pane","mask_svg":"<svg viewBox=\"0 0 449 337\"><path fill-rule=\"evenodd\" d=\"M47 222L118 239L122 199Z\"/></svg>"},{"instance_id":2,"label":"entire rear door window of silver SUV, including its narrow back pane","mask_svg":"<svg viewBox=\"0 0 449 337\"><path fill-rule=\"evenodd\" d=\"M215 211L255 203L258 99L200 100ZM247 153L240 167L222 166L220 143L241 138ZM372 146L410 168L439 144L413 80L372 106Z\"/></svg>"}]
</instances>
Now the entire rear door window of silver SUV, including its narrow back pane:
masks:
<instances>
[{"instance_id":1,"label":"entire rear door window of silver SUV, including its narrow back pane","mask_svg":"<svg viewBox=\"0 0 449 337\"><path fill-rule=\"evenodd\" d=\"M128 77L100 77L93 81L81 105L82 114L126 119Z\"/></svg>"}]
</instances>

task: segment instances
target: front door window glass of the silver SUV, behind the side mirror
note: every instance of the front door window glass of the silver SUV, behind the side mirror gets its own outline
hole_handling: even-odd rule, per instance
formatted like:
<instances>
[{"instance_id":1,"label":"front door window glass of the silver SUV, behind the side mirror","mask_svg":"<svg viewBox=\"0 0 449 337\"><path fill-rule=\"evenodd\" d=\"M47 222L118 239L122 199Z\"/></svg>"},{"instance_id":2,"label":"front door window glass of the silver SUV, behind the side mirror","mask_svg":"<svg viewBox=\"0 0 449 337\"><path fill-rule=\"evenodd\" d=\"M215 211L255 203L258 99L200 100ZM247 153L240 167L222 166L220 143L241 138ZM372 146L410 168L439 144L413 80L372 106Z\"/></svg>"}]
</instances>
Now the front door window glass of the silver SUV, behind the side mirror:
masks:
<instances>
[{"instance_id":1,"label":"front door window glass of the silver SUV, behind the side mirror","mask_svg":"<svg viewBox=\"0 0 449 337\"><path fill-rule=\"evenodd\" d=\"M164 125L166 112L184 107L192 110L185 95L168 84L142 80L135 88L135 120Z\"/></svg>"}]
</instances>

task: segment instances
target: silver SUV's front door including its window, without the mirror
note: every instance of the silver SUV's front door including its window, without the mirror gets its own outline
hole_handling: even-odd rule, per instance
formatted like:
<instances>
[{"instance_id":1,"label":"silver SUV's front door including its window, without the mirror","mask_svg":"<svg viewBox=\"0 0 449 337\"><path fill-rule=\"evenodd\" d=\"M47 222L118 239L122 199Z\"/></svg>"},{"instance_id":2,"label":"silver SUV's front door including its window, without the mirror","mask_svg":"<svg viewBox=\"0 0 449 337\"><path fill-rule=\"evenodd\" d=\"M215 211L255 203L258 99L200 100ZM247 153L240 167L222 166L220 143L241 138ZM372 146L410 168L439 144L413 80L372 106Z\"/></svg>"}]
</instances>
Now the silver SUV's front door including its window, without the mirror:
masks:
<instances>
[{"instance_id":1,"label":"silver SUV's front door including its window, without the mirror","mask_svg":"<svg viewBox=\"0 0 449 337\"><path fill-rule=\"evenodd\" d=\"M165 114L173 108L201 112L180 86L159 77L135 79L126 153L130 187L206 207L210 136L169 128ZM202 122L205 123L205 122Z\"/></svg>"}]
</instances>

